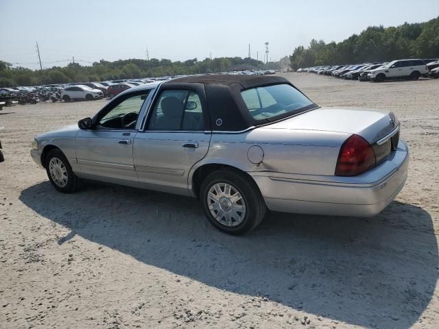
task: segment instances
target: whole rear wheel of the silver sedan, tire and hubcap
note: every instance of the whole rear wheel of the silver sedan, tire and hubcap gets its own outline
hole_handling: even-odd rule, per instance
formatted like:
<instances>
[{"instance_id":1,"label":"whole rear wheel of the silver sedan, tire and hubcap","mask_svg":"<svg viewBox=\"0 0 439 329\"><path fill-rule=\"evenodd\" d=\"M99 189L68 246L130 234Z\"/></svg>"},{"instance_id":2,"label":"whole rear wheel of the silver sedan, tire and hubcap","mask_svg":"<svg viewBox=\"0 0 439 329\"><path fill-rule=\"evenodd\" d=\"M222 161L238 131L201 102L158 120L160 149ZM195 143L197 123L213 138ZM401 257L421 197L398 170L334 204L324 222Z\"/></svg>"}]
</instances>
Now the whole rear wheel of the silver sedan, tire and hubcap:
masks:
<instances>
[{"instance_id":1,"label":"whole rear wheel of the silver sedan, tire and hubcap","mask_svg":"<svg viewBox=\"0 0 439 329\"><path fill-rule=\"evenodd\" d=\"M257 184L244 173L231 169L208 175L200 199L209 221L228 234L244 234L263 220L267 207Z\"/></svg>"}]
</instances>

